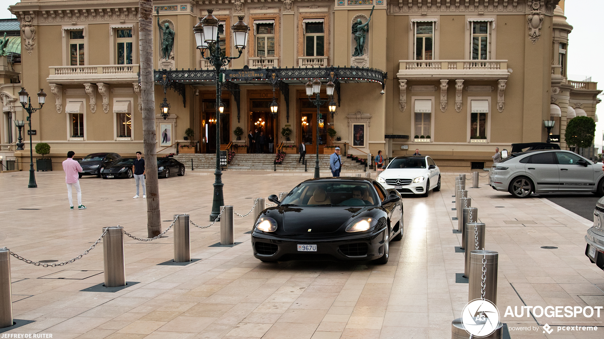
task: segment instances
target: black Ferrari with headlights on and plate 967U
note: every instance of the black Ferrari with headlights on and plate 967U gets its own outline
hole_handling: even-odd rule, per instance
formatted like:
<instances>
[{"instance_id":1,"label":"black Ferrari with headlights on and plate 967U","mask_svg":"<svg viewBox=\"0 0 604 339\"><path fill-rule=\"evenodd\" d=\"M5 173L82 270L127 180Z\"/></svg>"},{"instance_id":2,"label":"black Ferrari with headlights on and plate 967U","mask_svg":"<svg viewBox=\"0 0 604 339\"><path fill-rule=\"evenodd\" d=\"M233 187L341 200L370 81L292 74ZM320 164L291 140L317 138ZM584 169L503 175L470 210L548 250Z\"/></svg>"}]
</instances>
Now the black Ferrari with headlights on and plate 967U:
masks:
<instances>
[{"instance_id":1,"label":"black Ferrari with headlights on and plate 967U","mask_svg":"<svg viewBox=\"0 0 604 339\"><path fill-rule=\"evenodd\" d=\"M403 237L400 193L369 178L318 178L297 185L266 208L252 231L262 261L388 262L389 243Z\"/></svg>"}]
</instances>

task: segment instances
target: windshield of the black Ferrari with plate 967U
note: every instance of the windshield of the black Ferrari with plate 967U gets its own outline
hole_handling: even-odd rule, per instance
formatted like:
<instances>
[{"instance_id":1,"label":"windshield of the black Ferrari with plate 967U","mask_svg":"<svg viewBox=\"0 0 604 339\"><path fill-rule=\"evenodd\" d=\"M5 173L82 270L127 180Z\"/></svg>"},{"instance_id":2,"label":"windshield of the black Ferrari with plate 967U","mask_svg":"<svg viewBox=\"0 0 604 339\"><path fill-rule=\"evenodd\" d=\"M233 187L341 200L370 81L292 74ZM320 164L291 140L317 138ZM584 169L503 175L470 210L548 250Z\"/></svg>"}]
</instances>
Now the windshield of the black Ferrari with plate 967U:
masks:
<instances>
[{"instance_id":1,"label":"windshield of the black Ferrari with plate 967U","mask_svg":"<svg viewBox=\"0 0 604 339\"><path fill-rule=\"evenodd\" d=\"M281 205L296 206L374 206L376 195L367 182L303 182L283 199Z\"/></svg>"}]
</instances>

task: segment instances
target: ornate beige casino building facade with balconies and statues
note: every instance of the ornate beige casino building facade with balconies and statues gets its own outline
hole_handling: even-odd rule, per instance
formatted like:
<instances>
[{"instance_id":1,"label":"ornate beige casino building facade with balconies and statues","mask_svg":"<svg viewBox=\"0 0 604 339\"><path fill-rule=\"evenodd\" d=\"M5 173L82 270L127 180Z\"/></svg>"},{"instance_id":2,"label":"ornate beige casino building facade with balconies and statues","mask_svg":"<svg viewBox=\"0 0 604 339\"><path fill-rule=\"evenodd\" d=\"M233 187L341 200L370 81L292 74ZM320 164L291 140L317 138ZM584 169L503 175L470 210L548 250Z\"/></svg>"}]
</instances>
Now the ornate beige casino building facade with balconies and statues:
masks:
<instances>
[{"instance_id":1,"label":"ornate beige casino building facade with balconies and statues","mask_svg":"<svg viewBox=\"0 0 604 339\"><path fill-rule=\"evenodd\" d=\"M176 152L177 143L193 146L187 152L216 152L214 124L220 119L223 146L233 142L245 148L248 131L259 128L277 145L304 142L309 153L316 148L330 153L344 144L353 146L347 146L349 153L363 156L420 149L443 170L457 171L490 166L495 147L545 142L544 120L556 121L551 138L567 148L568 119L597 119L596 83L567 80L566 52L573 46L564 1L166 0L153 5L159 12L153 16L153 60L160 154ZM192 31L208 9L220 21L223 55L237 55L230 27L238 16L251 28L248 48L226 66L219 118L215 73L196 49ZM49 143L57 158L70 150L76 157L142 151L138 2L32 0L10 10L21 23L21 86L30 95L39 89L48 93L47 104L33 116L34 145ZM170 31L173 42L165 55L162 41ZM304 89L313 79L323 82L323 99L331 99L324 85L335 83L333 116L325 104L317 119ZM170 104L166 119L159 114L164 93ZM6 93L7 100L15 102L15 94ZM14 138L7 139L7 129L11 135L17 131L6 117L24 119L21 110L10 108L18 106L16 99L16 105L4 107L0 138L7 145L3 149L27 163L28 143L15 151ZM270 110L273 101L276 114ZM240 137L237 128L243 130ZM291 129L288 137L281 134L285 128ZM187 129L192 134L187 136Z\"/></svg>"}]
</instances>

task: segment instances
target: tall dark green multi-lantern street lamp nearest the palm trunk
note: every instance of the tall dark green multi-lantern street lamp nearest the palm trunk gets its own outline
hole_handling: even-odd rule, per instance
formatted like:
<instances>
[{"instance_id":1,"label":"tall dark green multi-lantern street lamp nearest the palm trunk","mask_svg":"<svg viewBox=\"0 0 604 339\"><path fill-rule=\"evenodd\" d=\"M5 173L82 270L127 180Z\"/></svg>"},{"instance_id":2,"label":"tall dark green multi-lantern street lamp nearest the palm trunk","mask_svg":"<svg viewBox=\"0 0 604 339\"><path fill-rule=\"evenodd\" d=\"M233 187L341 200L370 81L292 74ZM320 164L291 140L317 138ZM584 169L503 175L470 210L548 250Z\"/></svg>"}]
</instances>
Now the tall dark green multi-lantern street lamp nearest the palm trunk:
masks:
<instances>
[{"instance_id":1,"label":"tall dark green multi-lantern street lamp nearest the palm trunk","mask_svg":"<svg viewBox=\"0 0 604 339\"><path fill-rule=\"evenodd\" d=\"M220 104L220 69L228 65L231 60L241 57L243 49L248 43L249 26L243 22L243 16L238 16L239 21L231 26L235 48L239 51L237 57L226 57L220 54L220 35L218 32L219 20L212 15L214 10L207 10L208 15L203 19L199 18L197 25L193 27L193 34L197 48L205 60L210 61L216 70L216 171L214 172L214 197L212 201L212 212L210 221L215 221L220 214L220 206L224 205L224 196L222 194L222 170L220 170L220 114L224 106ZM213 46L213 48L210 48ZM205 50L210 48L208 57L205 57Z\"/></svg>"}]
</instances>

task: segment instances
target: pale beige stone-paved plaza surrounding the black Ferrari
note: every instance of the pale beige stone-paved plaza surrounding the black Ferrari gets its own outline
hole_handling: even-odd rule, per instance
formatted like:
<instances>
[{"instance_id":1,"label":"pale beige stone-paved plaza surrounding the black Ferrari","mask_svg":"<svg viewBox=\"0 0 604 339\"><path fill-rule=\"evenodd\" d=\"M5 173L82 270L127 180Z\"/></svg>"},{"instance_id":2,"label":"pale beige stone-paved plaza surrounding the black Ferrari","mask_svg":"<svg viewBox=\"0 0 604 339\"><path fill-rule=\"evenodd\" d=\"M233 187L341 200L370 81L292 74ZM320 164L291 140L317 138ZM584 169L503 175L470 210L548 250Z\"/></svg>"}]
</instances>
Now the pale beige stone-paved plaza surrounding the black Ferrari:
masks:
<instances>
[{"instance_id":1,"label":"pale beige stone-paved plaza surrounding the black Ferrari","mask_svg":"<svg viewBox=\"0 0 604 339\"><path fill-rule=\"evenodd\" d=\"M311 176L227 171L225 202L244 214L252 198L289 191ZM84 177L88 209L71 211L62 171L38 172L36 179L38 188L28 189L27 171L0 174L0 246L30 260L66 261L88 249L104 226L121 225L146 236L146 202L132 199L133 180ZM492 190L486 179L481 188L468 190L487 224L486 249L500 252L501 315L507 306L604 306L604 272L584 254L591 220L541 197L514 199ZM213 181L211 172L201 171L159 180L162 220L187 213L198 225L208 225ZM442 186L427 198L403 199L404 237L391 243L384 266L262 263L252 257L245 234L251 216L236 217L235 238L241 243L234 247L208 247L219 242L218 224L191 228L191 257L201 260L188 266L158 266L173 257L172 231L150 242L125 238L126 280L140 283L115 293L80 291L103 282L102 246L56 268L11 257L14 318L35 321L5 333L89 339L451 338L451 321L467 302L468 284L455 282L464 254L455 252L461 234L452 232L454 175L443 174ZM170 222L162 224L165 229ZM602 333L558 332L556 326L601 326L602 319L604 311L599 318L538 318L539 325L552 326L551 334L526 314L502 322L513 339L586 339Z\"/></svg>"}]
</instances>

